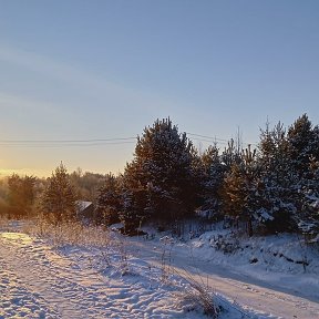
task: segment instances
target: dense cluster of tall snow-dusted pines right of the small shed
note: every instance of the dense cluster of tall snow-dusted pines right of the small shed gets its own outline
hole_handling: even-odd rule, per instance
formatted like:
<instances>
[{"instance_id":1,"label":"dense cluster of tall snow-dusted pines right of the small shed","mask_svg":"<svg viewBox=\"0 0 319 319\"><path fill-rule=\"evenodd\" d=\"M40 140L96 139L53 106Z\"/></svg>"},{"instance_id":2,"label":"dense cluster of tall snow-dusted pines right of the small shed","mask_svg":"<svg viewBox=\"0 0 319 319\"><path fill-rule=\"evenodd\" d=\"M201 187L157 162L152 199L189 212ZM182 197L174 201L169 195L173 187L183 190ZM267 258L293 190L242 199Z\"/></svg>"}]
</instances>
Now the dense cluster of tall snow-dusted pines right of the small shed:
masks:
<instances>
[{"instance_id":1,"label":"dense cluster of tall snow-dusted pines right of the small shed","mask_svg":"<svg viewBox=\"0 0 319 319\"><path fill-rule=\"evenodd\" d=\"M256 148L234 141L199 154L172 121L156 121L137 138L121 176L107 176L96 197L101 223L135 233L146 220L177 235L189 216L235 227L299 233L318 241L319 127L307 115L285 130L266 125Z\"/></svg>"}]
</instances>

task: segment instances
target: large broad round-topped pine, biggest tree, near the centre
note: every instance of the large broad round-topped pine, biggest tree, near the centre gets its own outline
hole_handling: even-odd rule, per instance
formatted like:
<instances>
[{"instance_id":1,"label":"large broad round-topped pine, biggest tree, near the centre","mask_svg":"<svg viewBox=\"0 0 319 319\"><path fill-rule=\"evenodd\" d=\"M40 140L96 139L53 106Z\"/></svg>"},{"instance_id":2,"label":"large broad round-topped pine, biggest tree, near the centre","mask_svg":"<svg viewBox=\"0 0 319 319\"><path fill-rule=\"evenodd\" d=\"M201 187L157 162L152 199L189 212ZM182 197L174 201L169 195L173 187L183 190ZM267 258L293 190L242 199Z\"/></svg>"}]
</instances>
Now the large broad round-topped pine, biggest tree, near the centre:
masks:
<instances>
[{"instance_id":1,"label":"large broad round-topped pine, biggest tree, near the centre","mask_svg":"<svg viewBox=\"0 0 319 319\"><path fill-rule=\"evenodd\" d=\"M192 143L169 119L145 127L124 173L126 204L145 218L173 220L192 214L196 193L193 160Z\"/></svg>"}]
</instances>

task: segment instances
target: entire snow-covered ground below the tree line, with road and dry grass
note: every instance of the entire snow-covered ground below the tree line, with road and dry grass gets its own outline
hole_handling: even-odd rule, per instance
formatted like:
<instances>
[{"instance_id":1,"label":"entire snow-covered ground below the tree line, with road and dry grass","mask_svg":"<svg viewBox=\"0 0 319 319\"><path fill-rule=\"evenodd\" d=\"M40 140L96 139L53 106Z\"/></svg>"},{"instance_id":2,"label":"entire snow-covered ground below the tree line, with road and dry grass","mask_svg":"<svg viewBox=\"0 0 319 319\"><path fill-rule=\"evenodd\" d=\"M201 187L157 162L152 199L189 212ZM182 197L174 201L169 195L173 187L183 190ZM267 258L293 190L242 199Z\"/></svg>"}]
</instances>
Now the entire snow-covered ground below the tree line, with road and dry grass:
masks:
<instances>
[{"instance_id":1,"label":"entire snow-covered ground below the tree line, with road and dry grass","mask_svg":"<svg viewBox=\"0 0 319 319\"><path fill-rule=\"evenodd\" d=\"M220 230L185 243L13 230L0 233L1 319L208 318L207 296L223 319L319 318L318 250L287 235L233 249Z\"/></svg>"}]
</instances>

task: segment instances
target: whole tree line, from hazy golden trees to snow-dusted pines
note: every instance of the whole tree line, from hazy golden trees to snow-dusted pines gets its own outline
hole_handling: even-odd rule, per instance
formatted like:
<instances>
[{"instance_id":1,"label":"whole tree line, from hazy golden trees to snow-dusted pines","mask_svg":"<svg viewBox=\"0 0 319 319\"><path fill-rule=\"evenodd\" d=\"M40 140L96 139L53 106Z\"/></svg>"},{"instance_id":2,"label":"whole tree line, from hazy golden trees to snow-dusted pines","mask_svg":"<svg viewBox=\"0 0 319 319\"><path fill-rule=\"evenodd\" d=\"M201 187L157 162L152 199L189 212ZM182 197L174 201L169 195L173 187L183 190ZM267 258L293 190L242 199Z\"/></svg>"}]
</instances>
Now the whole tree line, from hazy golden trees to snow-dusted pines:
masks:
<instances>
[{"instance_id":1,"label":"whole tree line, from hazy golden trees to snow-dusted pines","mask_svg":"<svg viewBox=\"0 0 319 319\"><path fill-rule=\"evenodd\" d=\"M106 168L106 167L105 167ZM288 127L260 130L256 147L240 141L199 153L169 119L137 136L124 173L69 174L61 163L40 179L13 174L0 182L0 213L8 218L79 218L78 200L94 203L86 223L122 222L135 234L144 223L178 235L184 220L224 222L247 235L280 231L315 238L319 230L319 126L307 114ZM317 236L318 238L318 236Z\"/></svg>"}]
</instances>

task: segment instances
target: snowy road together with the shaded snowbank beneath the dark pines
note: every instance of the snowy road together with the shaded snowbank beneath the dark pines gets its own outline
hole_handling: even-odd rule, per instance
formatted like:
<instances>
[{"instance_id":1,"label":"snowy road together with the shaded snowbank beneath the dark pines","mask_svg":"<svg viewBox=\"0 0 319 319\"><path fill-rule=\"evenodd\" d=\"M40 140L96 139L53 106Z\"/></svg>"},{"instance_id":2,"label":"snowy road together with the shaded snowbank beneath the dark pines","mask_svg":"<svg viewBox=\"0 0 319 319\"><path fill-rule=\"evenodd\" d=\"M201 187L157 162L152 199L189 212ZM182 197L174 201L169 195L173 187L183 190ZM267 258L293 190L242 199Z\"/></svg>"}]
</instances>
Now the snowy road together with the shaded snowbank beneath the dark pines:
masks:
<instances>
[{"instance_id":1,"label":"snowy road together with the shaded snowbank beneath the dark pines","mask_svg":"<svg viewBox=\"0 0 319 319\"><path fill-rule=\"evenodd\" d=\"M163 243L154 237L135 241L141 258L158 260L156 251L163 254ZM247 238L217 228L186 243L172 240L165 249L177 272L200 275L199 280L244 308L281 318L319 318L319 247L305 245L303 238Z\"/></svg>"}]
</instances>

